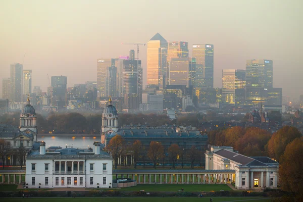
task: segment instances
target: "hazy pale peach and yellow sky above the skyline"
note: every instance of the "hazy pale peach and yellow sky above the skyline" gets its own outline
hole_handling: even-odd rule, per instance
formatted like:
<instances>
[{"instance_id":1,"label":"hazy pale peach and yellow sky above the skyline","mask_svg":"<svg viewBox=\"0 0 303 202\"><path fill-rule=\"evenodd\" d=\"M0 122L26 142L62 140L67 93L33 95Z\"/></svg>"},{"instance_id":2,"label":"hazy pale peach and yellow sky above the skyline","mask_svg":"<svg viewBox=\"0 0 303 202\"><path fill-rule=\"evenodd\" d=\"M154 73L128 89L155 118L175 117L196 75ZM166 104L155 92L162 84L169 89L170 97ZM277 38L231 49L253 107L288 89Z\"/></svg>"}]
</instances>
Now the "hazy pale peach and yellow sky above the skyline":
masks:
<instances>
[{"instance_id":1,"label":"hazy pale peach and yellow sky above the skyline","mask_svg":"<svg viewBox=\"0 0 303 202\"><path fill-rule=\"evenodd\" d=\"M32 69L32 87L46 91L47 74L67 76L73 87L96 80L98 58L134 49L121 42L146 43L159 32L189 47L214 44L214 86L221 87L222 69L269 59L274 87L297 98L303 94L302 7L301 0L0 0L0 96L11 63ZM146 46L139 57L146 74Z\"/></svg>"}]
</instances>

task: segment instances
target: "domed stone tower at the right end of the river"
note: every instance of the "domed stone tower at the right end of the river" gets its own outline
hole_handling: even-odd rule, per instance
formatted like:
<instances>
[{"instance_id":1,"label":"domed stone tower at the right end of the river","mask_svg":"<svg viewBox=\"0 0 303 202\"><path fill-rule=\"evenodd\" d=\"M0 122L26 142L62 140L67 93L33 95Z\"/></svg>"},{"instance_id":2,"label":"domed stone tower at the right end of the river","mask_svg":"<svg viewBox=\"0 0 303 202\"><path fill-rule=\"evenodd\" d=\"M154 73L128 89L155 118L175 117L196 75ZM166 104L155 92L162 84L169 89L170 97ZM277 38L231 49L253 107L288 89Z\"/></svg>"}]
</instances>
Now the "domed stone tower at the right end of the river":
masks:
<instances>
[{"instance_id":1,"label":"domed stone tower at the right end of the river","mask_svg":"<svg viewBox=\"0 0 303 202\"><path fill-rule=\"evenodd\" d=\"M103 110L102 114L101 142L106 143L106 135L117 132L118 129L118 113L116 108L112 105L112 97L110 97L109 105Z\"/></svg>"}]
</instances>

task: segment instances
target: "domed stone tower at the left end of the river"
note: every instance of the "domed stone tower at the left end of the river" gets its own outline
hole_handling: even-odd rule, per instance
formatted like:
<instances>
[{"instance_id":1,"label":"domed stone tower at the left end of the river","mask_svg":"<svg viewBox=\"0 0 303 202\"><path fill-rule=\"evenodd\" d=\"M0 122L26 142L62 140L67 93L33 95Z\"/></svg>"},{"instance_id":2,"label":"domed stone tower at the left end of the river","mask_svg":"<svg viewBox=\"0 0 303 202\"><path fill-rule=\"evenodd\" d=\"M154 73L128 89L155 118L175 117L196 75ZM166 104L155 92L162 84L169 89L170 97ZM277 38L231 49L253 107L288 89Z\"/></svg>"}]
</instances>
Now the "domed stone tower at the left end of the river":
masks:
<instances>
[{"instance_id":1,"label":"domed stone tower at the left end of the river","mask_svg":"<svg viewBox=\"0 0 303 202\"><path fill-rule=\"evenodd\" d=\"M29 96L27 105L23 108L20 115L20 131L33 134L33 140L37 141L37 116L35 109L30 105Z\"/></svg>"}]
</instances>

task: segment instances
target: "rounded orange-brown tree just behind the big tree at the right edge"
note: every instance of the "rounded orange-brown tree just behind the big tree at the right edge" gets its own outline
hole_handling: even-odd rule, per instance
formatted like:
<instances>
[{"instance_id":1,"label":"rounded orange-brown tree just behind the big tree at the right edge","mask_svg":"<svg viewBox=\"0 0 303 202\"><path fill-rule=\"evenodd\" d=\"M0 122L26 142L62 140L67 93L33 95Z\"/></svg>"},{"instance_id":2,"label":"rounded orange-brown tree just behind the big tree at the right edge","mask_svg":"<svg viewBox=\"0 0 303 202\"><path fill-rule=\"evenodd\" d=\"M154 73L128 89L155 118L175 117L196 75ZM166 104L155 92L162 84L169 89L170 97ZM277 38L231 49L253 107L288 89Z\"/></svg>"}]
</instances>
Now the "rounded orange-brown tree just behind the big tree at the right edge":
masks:
<instances>
[{"instance_id":1,"label":"rounded orange-brown tree just behind the big tree at the right edge","mask_svg":"<svg viewBox=\"0 0 303 202\"><path fill-rule=\"evenodd\" d=\"M279 161L283 155L286 145L295 138L301 137L298 129L292 126L284 126L278 132L274 133L267 144L267 151L271 158Z\"/></svg>"}]
</instances>

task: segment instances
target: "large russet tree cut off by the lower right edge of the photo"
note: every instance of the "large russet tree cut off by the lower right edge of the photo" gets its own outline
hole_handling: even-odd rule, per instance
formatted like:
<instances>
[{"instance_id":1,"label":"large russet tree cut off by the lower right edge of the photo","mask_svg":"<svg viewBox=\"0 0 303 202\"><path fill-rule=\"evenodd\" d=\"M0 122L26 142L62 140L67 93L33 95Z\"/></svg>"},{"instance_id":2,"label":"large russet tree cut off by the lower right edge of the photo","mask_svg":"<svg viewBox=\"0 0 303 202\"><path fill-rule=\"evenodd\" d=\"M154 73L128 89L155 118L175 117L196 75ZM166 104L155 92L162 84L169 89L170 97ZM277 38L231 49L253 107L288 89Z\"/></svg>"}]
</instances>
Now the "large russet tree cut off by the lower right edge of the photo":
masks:
<instances>
[{"instance_id":1,"label":"large russet tree cut off by the lower right edge of the photo","mask_svg":"<svg viewBox=\"0 0 303 202\"><path fill-rule=\"evenodd\" d=\"M303 137L287 144L281 156L279 178L281 189L293 192L296 198L303 198ZM300 201L300 200L298 200Z\"/></svg>"}]
</instances>

